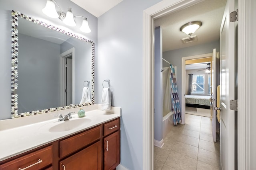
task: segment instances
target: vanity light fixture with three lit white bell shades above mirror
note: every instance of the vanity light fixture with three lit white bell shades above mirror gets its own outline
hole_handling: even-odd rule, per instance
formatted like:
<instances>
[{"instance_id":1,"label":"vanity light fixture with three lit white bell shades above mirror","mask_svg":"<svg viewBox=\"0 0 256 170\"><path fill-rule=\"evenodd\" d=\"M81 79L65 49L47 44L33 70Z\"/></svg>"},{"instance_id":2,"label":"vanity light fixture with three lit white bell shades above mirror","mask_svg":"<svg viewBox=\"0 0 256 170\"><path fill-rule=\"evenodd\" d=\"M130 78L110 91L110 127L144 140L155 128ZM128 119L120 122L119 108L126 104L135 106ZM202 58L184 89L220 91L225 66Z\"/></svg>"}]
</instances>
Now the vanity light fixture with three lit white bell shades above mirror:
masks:
<instances>
[{"instance_id":1,"label":"vanity light fixture with three lit white bell shades above mirror","mask_svg":"<svg viewBox=\"0 0 256 170\"><path fill-rule=\"evenodd\" d=\"M55 4L58 6L60 12L56 11ZM74 18L77 18L77 17L84 18L84 20L82 21L80 30L84 33L91 32L87 18L85 18L84 16L74 16L71 8L68 8L67 13L65 14L64 12L62 12L62 10L60 9L60 6L57 4L55 0L47 0L46 6L42 9L42 12L46 14L48 17L59 18L60 20L63 21L63 23L71 27L76 26L76 22Z\"/></svg>"}]
</instances>

